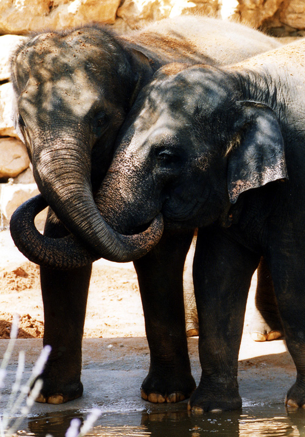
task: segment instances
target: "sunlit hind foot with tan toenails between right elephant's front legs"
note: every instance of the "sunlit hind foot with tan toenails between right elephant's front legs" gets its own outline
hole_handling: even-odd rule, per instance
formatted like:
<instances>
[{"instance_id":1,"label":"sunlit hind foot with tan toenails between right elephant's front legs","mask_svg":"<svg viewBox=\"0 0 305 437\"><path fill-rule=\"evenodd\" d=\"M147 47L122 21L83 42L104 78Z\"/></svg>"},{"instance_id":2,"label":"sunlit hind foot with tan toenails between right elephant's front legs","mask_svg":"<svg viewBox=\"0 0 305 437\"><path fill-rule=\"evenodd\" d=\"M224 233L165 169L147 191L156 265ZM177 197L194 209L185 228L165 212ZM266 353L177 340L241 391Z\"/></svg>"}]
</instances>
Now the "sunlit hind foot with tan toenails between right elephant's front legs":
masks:
<instances>
[{"instance_id":1,"label":"sunlit hind foot with tan toenails between right elephant's front legs","mask_svg":"<svg viewBox=\"0 0 305 437\"><path fill-rule=\"evenodd\" d=\"M284 332L279 314L256 310L252 318L250 334L254 341L271 341L283 338Z\"/></svg>"}]
</instances>

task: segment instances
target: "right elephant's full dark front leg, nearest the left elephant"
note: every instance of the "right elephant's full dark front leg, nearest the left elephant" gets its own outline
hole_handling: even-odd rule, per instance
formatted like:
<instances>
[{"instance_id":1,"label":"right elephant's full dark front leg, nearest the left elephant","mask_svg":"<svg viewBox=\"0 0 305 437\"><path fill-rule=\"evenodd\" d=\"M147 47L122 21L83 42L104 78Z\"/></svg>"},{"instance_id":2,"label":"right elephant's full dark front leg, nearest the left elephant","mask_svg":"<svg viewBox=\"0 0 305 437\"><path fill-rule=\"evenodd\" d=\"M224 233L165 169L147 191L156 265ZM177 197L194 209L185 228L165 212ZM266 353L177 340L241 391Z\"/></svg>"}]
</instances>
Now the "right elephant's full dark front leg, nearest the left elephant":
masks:
<instances>
[{"instance_id":1,"label":"right elephant's full dark front leg, nearest the left elephant","mask_svg":"<svg viewBox=\"0 0 305 437\"><path fill-rule=\"evenodd\" d=\"M200 384L189 409L241 407L237 367L251 278L259 256L219 228L200 229L194 258L194 289L199 317Z\"/></svg>"}]
</instances>

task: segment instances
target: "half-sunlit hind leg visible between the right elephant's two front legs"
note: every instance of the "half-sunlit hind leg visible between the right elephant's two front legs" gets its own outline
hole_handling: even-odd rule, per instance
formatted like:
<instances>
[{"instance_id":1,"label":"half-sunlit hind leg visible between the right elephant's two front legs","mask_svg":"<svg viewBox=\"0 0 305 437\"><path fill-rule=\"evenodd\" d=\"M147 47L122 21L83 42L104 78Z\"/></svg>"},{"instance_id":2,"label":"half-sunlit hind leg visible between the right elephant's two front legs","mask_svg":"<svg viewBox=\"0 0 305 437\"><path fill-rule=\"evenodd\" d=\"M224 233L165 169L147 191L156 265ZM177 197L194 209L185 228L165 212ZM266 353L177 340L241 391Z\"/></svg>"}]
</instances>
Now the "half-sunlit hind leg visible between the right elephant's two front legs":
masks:
<instances>
[{"instance_id":1,"label":"half-sunlit hind leg visible between the right elephant's two front legs","mask_svg":"<svg viewBox=\"0 0 305 437\"><path fill-rule=\"evenodd\" d=\"M255 310L250 333L254 341L270 341L283 337L283 327L271 273L264 258L261 258L257 270Z\"/></svg>"}]
</instances>

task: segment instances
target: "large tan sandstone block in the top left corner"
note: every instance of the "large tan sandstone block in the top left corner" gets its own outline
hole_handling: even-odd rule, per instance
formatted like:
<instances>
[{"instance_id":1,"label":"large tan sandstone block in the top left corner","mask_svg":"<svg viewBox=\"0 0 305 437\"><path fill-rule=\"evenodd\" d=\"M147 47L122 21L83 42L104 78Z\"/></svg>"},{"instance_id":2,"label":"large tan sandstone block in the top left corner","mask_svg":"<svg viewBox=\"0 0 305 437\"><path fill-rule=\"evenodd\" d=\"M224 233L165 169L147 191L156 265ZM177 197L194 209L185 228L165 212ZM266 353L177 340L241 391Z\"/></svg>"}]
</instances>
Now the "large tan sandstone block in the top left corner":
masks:
<instances>
[{"instance_id":1,"label":"large tan sandstone block in the top left corner","mask_svg":"<svg viewBox=\"0 0 305 437\"><path fill-rule=\"evenodd\" d=\"M88 22L114 23L120 0L2 0L0 33L59 30Z\"/></svg>"}]
</instances>

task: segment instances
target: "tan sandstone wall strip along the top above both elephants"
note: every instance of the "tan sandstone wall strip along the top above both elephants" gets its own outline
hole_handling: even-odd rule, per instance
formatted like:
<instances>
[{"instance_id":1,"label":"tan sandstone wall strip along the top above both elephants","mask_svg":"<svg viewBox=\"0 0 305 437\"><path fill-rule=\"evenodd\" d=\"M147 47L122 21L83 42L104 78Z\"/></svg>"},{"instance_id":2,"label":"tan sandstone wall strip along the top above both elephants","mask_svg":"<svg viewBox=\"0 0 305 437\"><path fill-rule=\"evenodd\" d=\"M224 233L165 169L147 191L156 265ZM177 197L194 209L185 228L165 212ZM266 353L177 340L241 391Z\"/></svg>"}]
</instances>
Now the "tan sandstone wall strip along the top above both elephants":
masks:
<instances>
[{"instance_id":1,"label":"tan sandstone wall strip along the top above both elephants","mask_svg":"<svg viewBox=\"0 0 305 437\"><path fill-rule=\"evenodd\" d=\"M305 30L304 0L1 0L0 35L26 35L88 22L111 24L118 32L179 14L234 16L273 35Z\"/></svg>"}]
</instances>

